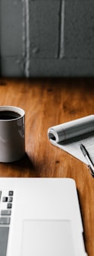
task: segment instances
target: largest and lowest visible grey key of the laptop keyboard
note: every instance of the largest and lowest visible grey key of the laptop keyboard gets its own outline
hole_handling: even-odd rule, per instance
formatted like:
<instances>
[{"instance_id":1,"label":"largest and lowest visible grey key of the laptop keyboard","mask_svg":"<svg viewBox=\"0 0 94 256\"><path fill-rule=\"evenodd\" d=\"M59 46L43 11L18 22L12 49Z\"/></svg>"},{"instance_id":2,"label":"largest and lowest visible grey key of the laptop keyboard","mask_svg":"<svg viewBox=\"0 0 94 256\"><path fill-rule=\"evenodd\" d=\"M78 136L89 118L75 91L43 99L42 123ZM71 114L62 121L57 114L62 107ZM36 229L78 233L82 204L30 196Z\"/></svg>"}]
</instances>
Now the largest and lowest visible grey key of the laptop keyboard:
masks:
<instances>
[{"instance_id":1,"label":"largest and lowest visible grey key of the laptop keyboard","mask_svg":"<svg viewBox=\"0 0 94 256\"><path fill-rule=\"evenodd\" d=\"M6 256L9 227L0 226L0 255Z\"/></svg>"}]
</instances>

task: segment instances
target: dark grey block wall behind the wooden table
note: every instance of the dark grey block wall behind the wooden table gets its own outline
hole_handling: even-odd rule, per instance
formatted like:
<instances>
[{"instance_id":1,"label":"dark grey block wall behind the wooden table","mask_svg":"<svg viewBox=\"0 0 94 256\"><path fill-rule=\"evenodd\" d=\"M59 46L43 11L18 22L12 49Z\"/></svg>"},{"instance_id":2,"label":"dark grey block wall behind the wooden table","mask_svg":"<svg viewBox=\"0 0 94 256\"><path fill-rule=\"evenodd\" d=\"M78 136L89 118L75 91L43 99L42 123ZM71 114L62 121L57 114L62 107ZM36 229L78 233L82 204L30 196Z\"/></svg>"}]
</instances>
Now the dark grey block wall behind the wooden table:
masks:
<instances>
[{"instance_id":1,"label":"dark grey block wall behind the wooden table","mask_svg":"<svg viewBox=\"0 0 94 256\"><path fill-rule=\"evenodd\" d=\"M93 0L0 0L0 75L93 76Z\"/></svg>"}]
</instances>

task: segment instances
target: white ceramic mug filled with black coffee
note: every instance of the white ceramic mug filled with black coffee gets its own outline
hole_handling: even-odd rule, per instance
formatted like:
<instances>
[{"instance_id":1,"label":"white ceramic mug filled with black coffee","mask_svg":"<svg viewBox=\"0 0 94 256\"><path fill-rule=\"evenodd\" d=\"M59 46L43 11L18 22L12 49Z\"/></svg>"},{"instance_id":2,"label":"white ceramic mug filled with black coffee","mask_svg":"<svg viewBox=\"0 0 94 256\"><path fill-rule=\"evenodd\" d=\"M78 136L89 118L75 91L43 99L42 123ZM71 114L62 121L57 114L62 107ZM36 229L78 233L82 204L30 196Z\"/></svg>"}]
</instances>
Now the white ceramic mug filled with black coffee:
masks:
<instances>
[{"instance_id":1,"label":"white ceramic mug filled with black coffee","mask_svg":"<svg viewBox=\"0 0 94 256\"><path fill-rule=\"evenodd\" d=\"M0 106L0 162L14 162L25 155L25 112Z\"/></svg>"}]
</instances>

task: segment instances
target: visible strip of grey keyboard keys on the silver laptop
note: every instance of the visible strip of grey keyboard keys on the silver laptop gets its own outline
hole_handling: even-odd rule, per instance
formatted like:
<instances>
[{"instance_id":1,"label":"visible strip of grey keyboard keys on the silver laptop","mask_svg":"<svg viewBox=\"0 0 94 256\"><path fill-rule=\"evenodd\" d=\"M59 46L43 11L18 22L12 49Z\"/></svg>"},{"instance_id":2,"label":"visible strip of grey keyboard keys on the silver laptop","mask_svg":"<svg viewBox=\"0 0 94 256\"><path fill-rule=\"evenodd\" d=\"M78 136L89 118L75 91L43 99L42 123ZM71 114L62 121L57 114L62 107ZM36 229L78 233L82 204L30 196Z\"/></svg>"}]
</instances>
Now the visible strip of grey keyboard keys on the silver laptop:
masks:
<instances>
[{"instance_id":1,"label":"visible strip of grey keyboard keys on the silver laptop","mask_svg":"<svg viewBox=\"0 0 94 256\"><path fill-rule=\"evenodd\" d=\"M0 255L6 256L14 191L0 191Z\"/></svg>"}]
</instances>

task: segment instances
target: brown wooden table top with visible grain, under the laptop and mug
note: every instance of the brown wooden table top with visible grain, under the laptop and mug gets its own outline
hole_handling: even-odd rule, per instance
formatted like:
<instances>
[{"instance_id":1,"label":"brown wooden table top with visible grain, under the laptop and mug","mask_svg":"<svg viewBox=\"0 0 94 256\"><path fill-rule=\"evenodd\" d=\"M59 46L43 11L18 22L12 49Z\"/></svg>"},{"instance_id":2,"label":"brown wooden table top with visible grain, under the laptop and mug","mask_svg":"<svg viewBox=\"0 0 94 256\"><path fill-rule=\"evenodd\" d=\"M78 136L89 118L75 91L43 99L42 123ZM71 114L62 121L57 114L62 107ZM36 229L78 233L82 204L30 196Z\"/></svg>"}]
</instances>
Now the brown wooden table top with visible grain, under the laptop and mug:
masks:
<instances>
[{"instance_id":1,"label":"brown wooden table top with visible grain, under the laptop and mug","mask_svg":"<svg viewBox=\"0 0 94 256\"><path fill-rule=\"evenodd\" d=\"M94 256L94 178L85 164L52 146L47 137L50 126L94 114L94 78L0 78L0 105L26 112L26 155L1 163L0 176L74 178L86 251Z\"/></svg>"}]
</instances>

